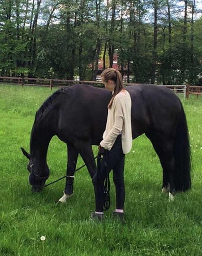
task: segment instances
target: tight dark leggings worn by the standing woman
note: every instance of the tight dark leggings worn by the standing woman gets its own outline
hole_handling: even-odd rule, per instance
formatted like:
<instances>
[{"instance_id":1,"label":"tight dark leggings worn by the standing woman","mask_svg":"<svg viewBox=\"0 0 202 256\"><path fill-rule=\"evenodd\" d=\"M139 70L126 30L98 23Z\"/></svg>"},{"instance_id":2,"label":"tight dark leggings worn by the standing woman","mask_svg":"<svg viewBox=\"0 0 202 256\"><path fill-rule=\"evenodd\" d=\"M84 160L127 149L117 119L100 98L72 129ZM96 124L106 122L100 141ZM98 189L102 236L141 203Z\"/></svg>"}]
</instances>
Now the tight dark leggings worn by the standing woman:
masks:
<instances>
[{"instance_id":1,"label":"tight dark leggings worn by the standing woman","mask_svg":"<svg viewBox=\"0 0 202 256\"><path fill-rule=\"evenodd\" d=\"M114 142L111 150L105 150L101 161L100 169L92 178L95 191L95 211L103 211L104 180L108 173L113 169L113 181L116 187L116 209L123 209L125 202L125 186L124 186L124 163L125 154L123 154L121 135ZM106 166L107 165L107 166Z\"/></svg>"}]
</instances>

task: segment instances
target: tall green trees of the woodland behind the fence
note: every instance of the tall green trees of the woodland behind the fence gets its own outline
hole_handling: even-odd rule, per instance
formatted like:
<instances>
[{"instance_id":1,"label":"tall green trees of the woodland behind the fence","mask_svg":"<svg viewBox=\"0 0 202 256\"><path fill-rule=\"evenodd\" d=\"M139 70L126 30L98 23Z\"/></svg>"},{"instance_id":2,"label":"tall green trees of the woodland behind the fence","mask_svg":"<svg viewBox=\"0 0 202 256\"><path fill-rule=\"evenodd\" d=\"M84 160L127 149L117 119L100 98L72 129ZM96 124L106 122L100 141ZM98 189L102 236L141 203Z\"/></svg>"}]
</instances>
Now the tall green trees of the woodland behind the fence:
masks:
<instances>
[{"instance_id":1,"label":"tall green trees of the woodland behind the fence","mask_svg":"<svg viewBox=\"0 0 202 256\"><path fill-rule=\"evenodd\" d=\"M0 0L0 76L202 85L198 1Z\"/></svg>"}]
</instances>

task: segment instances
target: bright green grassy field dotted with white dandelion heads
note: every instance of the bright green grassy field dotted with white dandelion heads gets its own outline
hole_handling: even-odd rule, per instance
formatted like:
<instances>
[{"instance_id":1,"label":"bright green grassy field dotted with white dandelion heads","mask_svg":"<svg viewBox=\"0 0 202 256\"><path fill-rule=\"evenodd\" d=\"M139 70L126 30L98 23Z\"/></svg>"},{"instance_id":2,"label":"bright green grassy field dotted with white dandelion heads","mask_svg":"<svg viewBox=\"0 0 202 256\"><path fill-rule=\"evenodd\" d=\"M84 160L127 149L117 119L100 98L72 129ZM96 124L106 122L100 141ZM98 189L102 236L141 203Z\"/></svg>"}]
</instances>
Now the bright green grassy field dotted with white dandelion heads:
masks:
<instances>
[{"instance_id":1,"label":"bright green grassy field dotted with white dandelion heads","mask_svg":"<svg viewBox=\"0 0 202 256\"><path fill-rule=\"evenodd\" d=\"M66 204L55 204L65 180L31 193L28 161L20 147L29 151L35 112L51 93L48 88L0 85L0 256L201 256L202 97L182 99L190 132L192 189L168 201L161 193L158 156L142 135L126 156L122 225L111 217L113 182L105 222L90 221L94 191L86 168L76 173L74 194ZM53 137L48 182L65 175L66 151L66 145ZM81 165L79 158L77 167Z\"/></svg>"}]
</instances>

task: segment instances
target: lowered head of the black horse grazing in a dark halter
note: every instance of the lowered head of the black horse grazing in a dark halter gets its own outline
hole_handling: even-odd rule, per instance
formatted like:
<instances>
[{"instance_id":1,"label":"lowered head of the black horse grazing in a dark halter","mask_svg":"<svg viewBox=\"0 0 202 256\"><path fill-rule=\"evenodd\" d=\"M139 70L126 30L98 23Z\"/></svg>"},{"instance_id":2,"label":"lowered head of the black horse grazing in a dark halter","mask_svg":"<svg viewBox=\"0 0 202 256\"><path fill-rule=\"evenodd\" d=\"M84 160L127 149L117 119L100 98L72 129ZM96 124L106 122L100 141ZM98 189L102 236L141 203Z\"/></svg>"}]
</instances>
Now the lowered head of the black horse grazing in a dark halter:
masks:
<instances>
[{"instance_id":1,"label":"lowered head of the black horse grazing in a dark halter","mask_svg":"<svg viewBox=\"0 0 202 256\"><path fill-rule=\"evenodd\" d=\"M21 148L21 150L24 156L29 159L29 163L27 165L27 169L29 171L29 184L32 186L32 191L39 192L43 189L43 186L49 177L50 170L47 167L47 170L43 172L46 173L46 176L42 176L42 174L40 174L41 172L39 173L39 170L37 170L37 168L34 169L33 159L31 158L31 155L26 152L24 148Z\"/></svg>"}]
</instances>

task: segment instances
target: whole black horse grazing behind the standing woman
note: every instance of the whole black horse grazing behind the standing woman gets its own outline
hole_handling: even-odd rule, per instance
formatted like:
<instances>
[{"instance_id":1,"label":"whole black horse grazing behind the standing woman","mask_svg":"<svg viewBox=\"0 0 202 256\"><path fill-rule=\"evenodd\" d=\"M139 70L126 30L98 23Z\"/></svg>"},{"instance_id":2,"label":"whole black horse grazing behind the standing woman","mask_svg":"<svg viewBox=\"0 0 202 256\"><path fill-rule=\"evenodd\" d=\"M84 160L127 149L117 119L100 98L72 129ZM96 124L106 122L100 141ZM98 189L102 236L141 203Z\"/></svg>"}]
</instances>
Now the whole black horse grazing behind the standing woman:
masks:
<instances>
[{"instance_id":1,"label":"whole black horse grazing behind the standing woman","mask_svg":"<svg viewBox=\"0 0 202 256\"><path fill-rule=\"evenodd\" d=\"M173 199L175 191L191 187L190 145L186 117L179 98L157 85L130 85L132 99L132 137L144 134L150 139L163 169L163 191ZM40 191L49 177L46 162L48 145L57 135L68 148L66 186L61 201L73 193L73 178L78 154L85 163L94 158L92 145L99 145L107 121L107 105L112 97L107 89L73 85L55 91L39 108L31 131L29 183ZM87 164L91 178L96 163Z\"/></svg>"}]
</instances>

